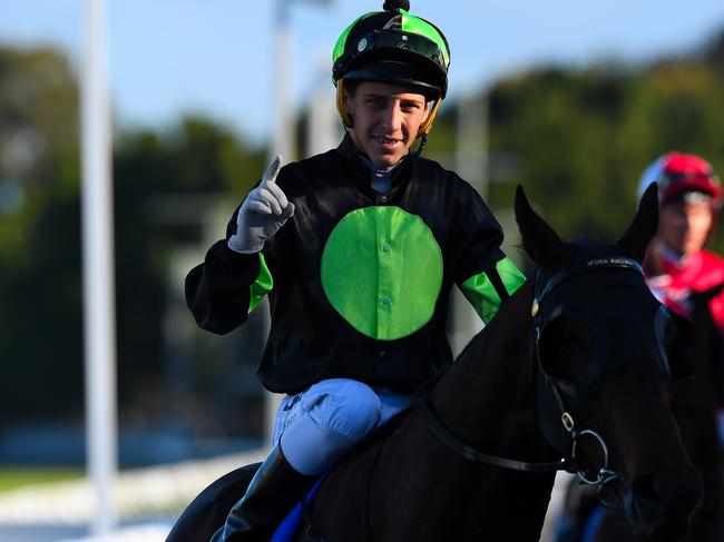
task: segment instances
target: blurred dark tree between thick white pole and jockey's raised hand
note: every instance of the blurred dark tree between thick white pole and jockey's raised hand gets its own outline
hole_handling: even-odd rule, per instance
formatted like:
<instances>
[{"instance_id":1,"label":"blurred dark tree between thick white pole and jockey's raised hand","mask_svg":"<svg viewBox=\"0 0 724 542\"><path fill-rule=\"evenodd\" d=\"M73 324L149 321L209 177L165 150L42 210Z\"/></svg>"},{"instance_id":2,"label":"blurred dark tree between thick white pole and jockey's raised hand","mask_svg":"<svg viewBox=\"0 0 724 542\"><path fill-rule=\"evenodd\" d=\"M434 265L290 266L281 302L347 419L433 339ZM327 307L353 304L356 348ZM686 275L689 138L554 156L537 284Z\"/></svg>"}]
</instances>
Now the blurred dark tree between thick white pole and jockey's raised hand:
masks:
<instances>
[{"instance_id":1,"label":"blurred dark tree between thick white pole and jockey's raised hand","mask_svg":"<svg viewBox=\"0 0 724 542\"><path fill-rule=\"evenodd\" d=\"M226 195L231 208L242 200L264 170L266 151L243 144L223 127L190 117L163 136L128 134L116 147L119 391L121 405L133 408L137 391L164 387L170 253L179 244L200 242L204 224L193 215L204 195ZM190 209L174 205L179 197L196 198L199 205ZM218 237L223 235L219 230Z\"/></svg>"}]
</instances>

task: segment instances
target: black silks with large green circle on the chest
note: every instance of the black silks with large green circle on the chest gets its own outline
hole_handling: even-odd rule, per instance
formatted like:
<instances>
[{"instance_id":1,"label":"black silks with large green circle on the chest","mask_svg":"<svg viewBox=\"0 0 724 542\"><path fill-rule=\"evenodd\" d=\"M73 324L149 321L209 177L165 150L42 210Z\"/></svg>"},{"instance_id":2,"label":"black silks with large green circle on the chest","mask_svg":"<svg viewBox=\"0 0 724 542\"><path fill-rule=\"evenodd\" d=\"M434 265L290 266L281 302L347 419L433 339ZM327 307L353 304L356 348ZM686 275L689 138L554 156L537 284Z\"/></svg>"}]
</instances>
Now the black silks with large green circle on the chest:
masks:
<instances>
[{"instance_id":1,"label":"black silks with large green circle on the chest","mask_svg":"<svg viewBox=\"0 0 724 542\"><path fill-rule=\"evenodd\" d=\"M348 377L412 393L452 363L453 284L487 323L525 282L480 196L436 161L408 157L378 194L345 139L283 167L277 184L295 213L263 252L236 254L221 240L186 278L196 321L216 333L237 327L268 294L258 374L274 392Z\"/></svg>"}]
</instances>

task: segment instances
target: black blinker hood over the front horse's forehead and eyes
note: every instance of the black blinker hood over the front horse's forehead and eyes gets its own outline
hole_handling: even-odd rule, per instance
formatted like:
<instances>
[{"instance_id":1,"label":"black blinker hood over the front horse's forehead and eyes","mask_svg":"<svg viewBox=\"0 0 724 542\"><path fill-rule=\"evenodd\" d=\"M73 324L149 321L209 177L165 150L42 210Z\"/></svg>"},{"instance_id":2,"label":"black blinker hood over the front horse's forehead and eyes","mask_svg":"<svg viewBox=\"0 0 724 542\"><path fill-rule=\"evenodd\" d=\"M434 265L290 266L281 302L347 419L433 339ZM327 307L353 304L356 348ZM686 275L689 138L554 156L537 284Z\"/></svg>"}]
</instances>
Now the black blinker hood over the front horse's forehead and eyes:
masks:
<instances>
[{"instance_id":1,"label":"black blinker hood over the front horse's forehead and eyes","mask_svg":"<svg viewBox=\"0 0 724 542\"><path fill-rule=\"evenodd\" d=\"M601 383L629 369L636 363L655 363L665 369L667 363L659 348L663 308L644 282L640 265L613 245L581 242L569 245L573 257L561 270L539 273L536 278L536 349L541 369L550 366L546 359L549 332L561 318L583 323L589 334L591 357L585 366L569 373L570 381L558 378L559 387L569 396L571 406L579 404ZM591 290L589 274L601 274ZM638 299L633 305L630 299ZM593 313L589 306L595 304ZM666 316L666 315L665 315ZM554 337L552 339L557 339Z\"/></svg>"}]
</instances>

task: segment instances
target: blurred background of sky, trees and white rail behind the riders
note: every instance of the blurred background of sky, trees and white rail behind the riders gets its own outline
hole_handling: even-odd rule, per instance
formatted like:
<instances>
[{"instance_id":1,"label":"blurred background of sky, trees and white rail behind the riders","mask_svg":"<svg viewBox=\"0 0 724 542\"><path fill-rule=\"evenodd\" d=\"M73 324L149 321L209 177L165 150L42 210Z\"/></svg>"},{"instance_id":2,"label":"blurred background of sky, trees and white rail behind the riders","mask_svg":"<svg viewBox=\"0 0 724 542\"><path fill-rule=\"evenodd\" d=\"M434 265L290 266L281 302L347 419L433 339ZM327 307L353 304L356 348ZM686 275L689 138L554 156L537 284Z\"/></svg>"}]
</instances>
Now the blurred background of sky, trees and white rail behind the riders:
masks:
<instances>
[{"instance_id":1,"label":"blurred background of sky, trees and white rail behind the riders","mask_svg":"<svg viewBox=\"0 0 724 542\"><path fill-rule=\"evenodd\" d=\"M412 0L452 50L425 155L503 224L524 185L564 236L617 238L643 169L677 149L724 170L724 3ZM0 540L74 540L86 475L82 0L0 0ZM382 1L108 0L117 329L116 506L164 540L206 484L265 445L265 307L218 337L186 273L268 157L336 146L330 58ZM722 252L724 238L712 248ZM457 304L456 304L457 306ZM459 349L478 328L456 308ZM164 531L166 530L166 531ZM120 536L120 535L119 535ZM124 539L126 540L126 539Z\"/></svg>"}]
</instances>

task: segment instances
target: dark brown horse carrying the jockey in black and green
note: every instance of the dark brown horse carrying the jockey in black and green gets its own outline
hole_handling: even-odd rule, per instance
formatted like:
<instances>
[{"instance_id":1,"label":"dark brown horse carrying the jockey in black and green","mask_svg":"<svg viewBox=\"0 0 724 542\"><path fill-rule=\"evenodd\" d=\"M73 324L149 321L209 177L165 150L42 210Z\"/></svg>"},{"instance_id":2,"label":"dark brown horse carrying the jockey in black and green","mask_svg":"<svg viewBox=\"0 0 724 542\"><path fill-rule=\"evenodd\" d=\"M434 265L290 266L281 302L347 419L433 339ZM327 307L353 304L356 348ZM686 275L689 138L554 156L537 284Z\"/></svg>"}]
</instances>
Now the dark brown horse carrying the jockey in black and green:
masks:
<instances>
[{"instance_id":1,"label":"dark brown horse carrying the jockey in black and green","mask_svg":"<svg viewBox=\"0 0 724 542\"><path fill-rule=\"evenodd\" d=\"M594 484L624 487L652 539L686 532L702 490L668 408L682 359L638 264L656 230L655 188L616 245L561 242L520 188L516 217L536 278L419 407L324 480L314 534L299 541L537 541L555 470L575 464ZM243 477L203 492L168 540L208 540Z\"/></svg>"}]
</instances>

